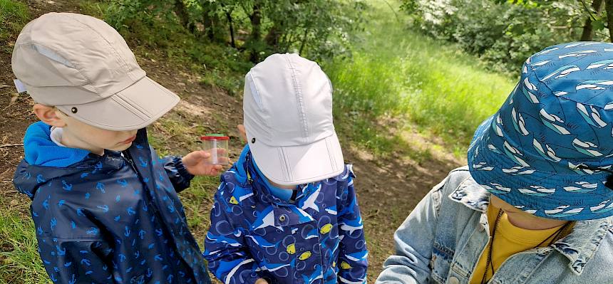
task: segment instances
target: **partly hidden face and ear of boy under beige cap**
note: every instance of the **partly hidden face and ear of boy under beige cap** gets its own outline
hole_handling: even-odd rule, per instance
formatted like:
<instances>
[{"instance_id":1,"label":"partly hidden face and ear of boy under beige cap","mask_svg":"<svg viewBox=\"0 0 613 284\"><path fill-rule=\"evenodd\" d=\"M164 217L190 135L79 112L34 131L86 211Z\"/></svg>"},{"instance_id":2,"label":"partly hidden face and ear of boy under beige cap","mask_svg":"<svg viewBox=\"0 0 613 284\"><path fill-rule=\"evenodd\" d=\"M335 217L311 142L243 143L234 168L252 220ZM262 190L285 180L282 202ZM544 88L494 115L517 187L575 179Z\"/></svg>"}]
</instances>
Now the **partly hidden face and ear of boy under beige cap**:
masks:
<instances>
[{"instance_id":1,"label":"partly hidden face and ear of boy under beige cap","mask_svg":"<svg viewBox=\"0 0 613 284\"><path fill-rule=\"evenodd\" d=\"M36 116L48 125L62 127L62 144L104 154L104 149L123 151L136 139L138 130L112 131L93 127L70 117L54 107L35 105Z\"/></svg>"}]
</instances>

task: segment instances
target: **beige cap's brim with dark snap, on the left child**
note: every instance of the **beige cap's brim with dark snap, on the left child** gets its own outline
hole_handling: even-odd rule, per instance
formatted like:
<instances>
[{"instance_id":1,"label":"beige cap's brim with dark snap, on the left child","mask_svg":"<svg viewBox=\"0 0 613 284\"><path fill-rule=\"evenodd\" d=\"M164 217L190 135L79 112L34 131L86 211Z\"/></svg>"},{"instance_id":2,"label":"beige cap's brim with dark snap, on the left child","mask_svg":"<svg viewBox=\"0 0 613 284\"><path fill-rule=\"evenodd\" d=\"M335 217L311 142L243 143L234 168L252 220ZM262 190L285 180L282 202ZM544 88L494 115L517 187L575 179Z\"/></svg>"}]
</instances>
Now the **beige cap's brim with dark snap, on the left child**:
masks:
<instances>
[{"instance_id":1,"label":"beige cap's brim with dark snap, on the left child","mask_svg":"<svg viewBox=\"0 0 613 284\"><path fill-rule=\"evenodd\" d=\"M148 77L103 100L58 109L83 123L104 130L146 127L175 107L180 98ZM76 110L76 112L75 112Z\"/></svg>"}]
</instances>

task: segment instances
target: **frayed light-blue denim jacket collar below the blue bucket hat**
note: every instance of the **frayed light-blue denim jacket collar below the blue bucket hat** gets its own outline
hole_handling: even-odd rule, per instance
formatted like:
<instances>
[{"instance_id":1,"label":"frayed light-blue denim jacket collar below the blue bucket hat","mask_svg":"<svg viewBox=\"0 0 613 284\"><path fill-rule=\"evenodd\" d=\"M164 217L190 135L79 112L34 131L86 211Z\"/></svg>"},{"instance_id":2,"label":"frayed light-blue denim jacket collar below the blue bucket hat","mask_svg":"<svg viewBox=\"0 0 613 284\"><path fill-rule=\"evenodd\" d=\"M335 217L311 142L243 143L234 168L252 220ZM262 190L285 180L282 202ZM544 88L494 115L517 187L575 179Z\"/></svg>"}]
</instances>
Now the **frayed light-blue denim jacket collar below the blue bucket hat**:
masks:
<instances>
[{"instance_id":1,"label":"frayed light-blue denim jacket collar below the blue bucket hat","mask_svg":"<svg viewBox=\"0 0 613 284\"><path fill-rule=\"evenodd\" d=\"M454 189L448 197L452 201L483 214L485 214L490 204L490 193L471 177L461 182L458 188ZM487 218L483 220L487 223ZM568 236L556 241L551 246L556 251L562 253L563 256L566 256L570 261L570 270L580 275L587 262L594 257L607 231L612 228L612 217L577 221Z\"/></svg>"}]
</instances>

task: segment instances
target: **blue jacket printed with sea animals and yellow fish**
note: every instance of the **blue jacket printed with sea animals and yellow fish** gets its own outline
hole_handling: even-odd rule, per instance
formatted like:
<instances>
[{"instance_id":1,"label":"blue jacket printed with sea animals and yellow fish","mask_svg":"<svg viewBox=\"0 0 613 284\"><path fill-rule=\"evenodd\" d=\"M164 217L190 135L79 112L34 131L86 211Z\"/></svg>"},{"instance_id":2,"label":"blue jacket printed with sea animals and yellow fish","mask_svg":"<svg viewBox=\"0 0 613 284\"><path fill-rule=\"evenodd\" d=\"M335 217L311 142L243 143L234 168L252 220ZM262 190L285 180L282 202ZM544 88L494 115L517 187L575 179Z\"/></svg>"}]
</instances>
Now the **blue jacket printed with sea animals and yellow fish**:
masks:
<instances>
[{"instance_id":1,"label":"blue jacket printed with sea animals and yellow fish","mask_svg":"<svg viewBox=\"0 0 613 284\"><path fill-rule=\"evenodd\" d=\"M368 251L351 166L301 186L295 203L273 196L245 147L222 175L205 241L224 283L366 283Z\"/></svg>"}]
</instances>

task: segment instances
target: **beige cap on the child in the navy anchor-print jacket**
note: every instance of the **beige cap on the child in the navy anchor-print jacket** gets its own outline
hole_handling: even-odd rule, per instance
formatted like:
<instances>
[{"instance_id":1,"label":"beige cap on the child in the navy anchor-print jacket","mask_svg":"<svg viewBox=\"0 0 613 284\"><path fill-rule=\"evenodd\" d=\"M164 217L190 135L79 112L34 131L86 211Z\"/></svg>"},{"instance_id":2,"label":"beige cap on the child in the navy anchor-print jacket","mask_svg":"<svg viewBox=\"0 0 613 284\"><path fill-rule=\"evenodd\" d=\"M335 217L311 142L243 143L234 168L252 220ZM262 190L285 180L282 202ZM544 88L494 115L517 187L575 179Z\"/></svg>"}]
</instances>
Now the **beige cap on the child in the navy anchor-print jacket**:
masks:
<instances>
[{"instance_id":1,"label":"beige cap on the child in the navy anchor-print jacket","mask_svg":"<svg viewBox=\"0 0 613 284\"><path fill-rule=\"evenodd\" d=\"M31 21L11 64L34 101L105 130L143 128L180 100L145 76L114 28L91 16L48 13Z\"/></svg>"}]
</instances>

